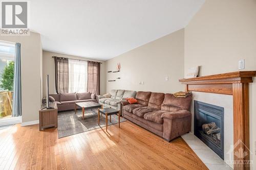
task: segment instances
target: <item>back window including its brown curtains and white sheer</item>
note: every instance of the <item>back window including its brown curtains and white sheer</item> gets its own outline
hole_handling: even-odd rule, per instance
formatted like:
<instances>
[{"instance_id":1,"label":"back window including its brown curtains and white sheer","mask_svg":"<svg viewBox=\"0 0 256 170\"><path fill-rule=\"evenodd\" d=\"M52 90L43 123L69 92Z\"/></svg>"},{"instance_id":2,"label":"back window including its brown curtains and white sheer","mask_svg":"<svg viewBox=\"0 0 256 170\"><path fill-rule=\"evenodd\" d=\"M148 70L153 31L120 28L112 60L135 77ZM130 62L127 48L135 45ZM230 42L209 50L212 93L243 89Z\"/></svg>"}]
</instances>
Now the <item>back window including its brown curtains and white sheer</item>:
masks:
<instances>
[{"instance_id":1,"label":"back window including its brown curtains and white sheer","mask_svg":"<svg viewBox=\"0 0 256 170\"><path fill-rule=\"evenodd\" d=\"M54 56L56 93L99 94L100 62Z\"/></svg>"}]
</instances>

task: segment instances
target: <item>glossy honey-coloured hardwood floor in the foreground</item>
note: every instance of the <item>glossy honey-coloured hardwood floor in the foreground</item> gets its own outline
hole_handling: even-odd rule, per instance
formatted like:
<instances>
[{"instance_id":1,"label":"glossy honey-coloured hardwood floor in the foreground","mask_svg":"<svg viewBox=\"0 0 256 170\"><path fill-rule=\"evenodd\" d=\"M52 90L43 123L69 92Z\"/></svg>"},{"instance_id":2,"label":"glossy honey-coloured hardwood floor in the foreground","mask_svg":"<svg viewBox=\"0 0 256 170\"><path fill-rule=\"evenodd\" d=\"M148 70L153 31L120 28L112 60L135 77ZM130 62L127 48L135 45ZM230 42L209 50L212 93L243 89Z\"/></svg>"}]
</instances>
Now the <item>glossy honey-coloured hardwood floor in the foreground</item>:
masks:
<instances>
[{"instance_id":1,"label":"glossy honey-coloured hardwood floor in the foreground","mask_svg":"<svg viewBox=\"0 0 256 170\"><path fill-rule=\"evenodd\" d=\"M0 130L0 169L207 169L179 137L171 142L127 121L58 139L57 129Z\"/></svg>"}]
</instances>

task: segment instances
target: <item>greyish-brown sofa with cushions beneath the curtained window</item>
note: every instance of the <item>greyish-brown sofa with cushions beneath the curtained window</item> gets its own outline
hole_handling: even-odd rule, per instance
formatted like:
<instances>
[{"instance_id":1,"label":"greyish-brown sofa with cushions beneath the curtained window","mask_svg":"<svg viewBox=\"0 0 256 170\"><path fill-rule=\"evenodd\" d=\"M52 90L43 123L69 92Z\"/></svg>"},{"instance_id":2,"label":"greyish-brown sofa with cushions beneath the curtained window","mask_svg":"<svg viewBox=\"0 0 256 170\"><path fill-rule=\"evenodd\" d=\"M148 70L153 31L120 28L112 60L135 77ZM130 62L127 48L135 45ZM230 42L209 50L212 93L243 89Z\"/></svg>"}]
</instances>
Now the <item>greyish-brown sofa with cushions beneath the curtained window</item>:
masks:
<instances>
[{"instance_id":1,"label":"greyish-brown sofa with cushions beneath the curtained window","mask_svg":"<svg viewBox=\"0 0 256 170\"><path fill-rule=\"evenodd\" d=\"M76 102L96 102L96 95L94 93L60 93L49 94L57 103L58 111L74 110Z\"/></svg>"}]
</instances>

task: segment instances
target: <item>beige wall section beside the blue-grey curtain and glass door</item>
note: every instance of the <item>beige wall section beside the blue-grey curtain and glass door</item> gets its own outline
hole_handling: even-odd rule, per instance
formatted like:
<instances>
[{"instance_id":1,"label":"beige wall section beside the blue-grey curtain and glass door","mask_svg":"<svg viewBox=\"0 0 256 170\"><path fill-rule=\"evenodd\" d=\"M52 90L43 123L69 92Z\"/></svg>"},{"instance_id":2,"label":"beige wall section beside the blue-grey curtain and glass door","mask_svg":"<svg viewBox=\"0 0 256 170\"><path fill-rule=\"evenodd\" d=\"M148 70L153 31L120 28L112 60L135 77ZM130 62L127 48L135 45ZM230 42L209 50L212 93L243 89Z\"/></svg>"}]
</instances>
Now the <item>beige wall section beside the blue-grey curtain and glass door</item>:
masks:
<instances>
[{"instance_id":1,"label":"beige wall section beside the blue-grey curtain and glass door","mask_svg":"<svg viewBox=\"0 0 256 170\"><path fill-rule=\"evenodd\" d=\"M41 103L40 69L41 38L40 34L30 36L0 36L0 40L19 42L22 70L22 122L38 120Z\"/></svg>"}]
</instances>

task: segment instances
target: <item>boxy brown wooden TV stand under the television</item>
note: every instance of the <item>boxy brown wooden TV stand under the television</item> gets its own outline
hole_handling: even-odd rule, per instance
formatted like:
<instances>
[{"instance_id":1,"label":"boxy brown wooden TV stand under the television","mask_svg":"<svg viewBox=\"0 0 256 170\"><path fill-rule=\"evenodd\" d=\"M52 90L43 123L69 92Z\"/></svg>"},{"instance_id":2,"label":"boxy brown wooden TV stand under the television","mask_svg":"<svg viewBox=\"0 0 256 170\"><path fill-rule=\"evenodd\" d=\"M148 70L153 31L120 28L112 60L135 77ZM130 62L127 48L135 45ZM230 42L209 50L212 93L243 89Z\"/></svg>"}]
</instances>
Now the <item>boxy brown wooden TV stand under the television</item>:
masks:
<instances>
[{"instance_id":1,"label":"boxy brown wooden TV stand under the television","mask_svg":"<svg viewBox=\"0 0 256 170\"><path fill-rule=\"evenodd\" d=\"M55 127L58 128L58 108L56 103L51 103L50 107L53 109L42 109L45 106L41 106L39 110L39 131L44 128Z\"/></svg>"}]
</instances>

